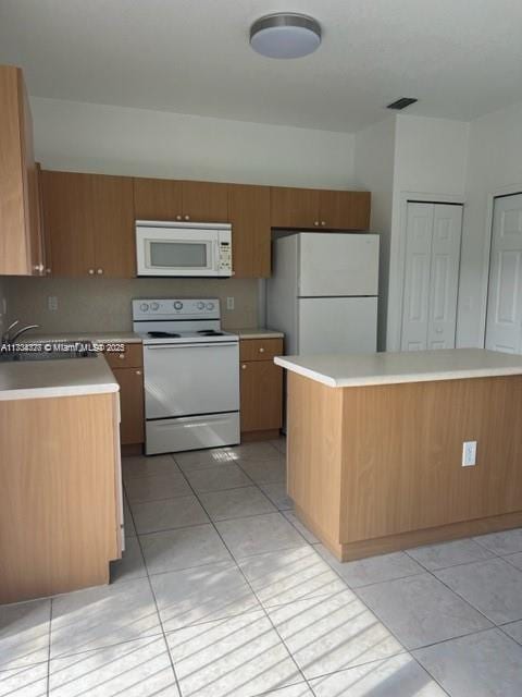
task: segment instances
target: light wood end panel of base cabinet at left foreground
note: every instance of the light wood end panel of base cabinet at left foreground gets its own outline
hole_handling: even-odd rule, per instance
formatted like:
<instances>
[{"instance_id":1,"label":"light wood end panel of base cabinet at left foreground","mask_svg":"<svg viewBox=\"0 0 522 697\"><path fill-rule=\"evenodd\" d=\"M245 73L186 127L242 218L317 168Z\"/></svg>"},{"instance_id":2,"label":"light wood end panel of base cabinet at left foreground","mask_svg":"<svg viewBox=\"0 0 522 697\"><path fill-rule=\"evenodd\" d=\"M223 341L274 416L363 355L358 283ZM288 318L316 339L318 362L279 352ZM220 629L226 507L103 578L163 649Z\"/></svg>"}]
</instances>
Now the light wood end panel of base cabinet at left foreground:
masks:
<instances>
[{"instance_id":1,"label":"light wood end panel of base cabinet at left foreground","mask_svg":"<svg viewBox=\"0 0 522 697\"><path fill-rule=\"evenodd\" d=\"M0 401L0 604L109 583L122 551L116 396Z\"/></svg>"}]
</instances>

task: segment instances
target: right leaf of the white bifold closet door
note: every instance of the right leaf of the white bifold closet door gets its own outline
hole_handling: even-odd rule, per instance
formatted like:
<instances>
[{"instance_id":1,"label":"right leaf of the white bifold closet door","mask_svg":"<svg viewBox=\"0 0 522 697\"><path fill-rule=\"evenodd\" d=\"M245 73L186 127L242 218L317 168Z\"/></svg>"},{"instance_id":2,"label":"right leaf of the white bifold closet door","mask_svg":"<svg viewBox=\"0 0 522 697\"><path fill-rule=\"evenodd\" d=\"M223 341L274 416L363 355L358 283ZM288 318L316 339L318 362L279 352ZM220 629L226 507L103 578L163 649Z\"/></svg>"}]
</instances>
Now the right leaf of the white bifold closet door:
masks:
<instances>
[{"instance_id":1,"label":"right leaf of the white bifold closet door","mask_svg":"<svg viewBox=\"0 0 522 697\"><path fill-rule=\"evenodd\" d=\"M455 348L462 206L436 204L430 272L428 348Z\"/></svg>"}]
</instances>

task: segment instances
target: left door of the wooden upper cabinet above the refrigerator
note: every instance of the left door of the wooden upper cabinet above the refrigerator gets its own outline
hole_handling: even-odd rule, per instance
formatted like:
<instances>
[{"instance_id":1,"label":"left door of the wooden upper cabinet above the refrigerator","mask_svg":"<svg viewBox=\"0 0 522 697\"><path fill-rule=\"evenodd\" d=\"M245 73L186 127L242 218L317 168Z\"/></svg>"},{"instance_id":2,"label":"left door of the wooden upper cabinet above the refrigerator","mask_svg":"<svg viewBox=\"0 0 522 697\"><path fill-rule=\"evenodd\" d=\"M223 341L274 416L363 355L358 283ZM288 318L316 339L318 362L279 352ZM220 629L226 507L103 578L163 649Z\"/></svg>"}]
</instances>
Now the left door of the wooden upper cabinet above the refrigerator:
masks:
<instances>
[{"instance_id":1,"label":"left door of the wooden upper cabinet above the refrigerator","mask_svg":"<svg viewBox=\"0 0 522 697\"><path fill-rule=\"evenodd\" d=\"M319 194L315 188L272 186L272 228L319 227Z\"/></svg>"}]
</instances>

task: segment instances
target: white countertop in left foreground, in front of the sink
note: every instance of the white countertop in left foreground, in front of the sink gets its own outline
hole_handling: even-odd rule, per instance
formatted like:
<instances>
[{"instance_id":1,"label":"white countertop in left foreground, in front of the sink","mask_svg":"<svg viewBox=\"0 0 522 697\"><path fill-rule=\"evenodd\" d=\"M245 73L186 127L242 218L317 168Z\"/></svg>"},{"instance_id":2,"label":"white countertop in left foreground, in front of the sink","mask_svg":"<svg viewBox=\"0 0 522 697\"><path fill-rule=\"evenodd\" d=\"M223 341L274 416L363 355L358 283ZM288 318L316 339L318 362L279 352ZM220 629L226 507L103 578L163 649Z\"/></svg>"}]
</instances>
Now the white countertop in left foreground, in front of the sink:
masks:
<instances>
[{"instance_id":1,"label":"white countertop in left foreground, in front of the sink","mask_svg":"<svg viewBox=\"0 0 522 697\"><path fill-rule=\"evenodd\" d=\"M0 363L0 401L117 392L101 354L94 358Z\"/></svg>"}]
</instances>

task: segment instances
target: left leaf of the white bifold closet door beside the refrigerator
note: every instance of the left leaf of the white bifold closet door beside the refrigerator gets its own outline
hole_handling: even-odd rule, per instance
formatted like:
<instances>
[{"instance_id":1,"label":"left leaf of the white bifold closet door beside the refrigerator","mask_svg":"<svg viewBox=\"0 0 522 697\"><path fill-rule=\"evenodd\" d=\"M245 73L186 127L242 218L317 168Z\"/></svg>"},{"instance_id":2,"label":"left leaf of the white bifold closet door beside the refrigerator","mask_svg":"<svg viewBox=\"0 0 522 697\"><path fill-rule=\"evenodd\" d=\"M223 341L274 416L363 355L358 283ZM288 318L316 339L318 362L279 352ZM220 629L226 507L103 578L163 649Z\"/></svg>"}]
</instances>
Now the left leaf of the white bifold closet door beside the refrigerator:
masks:
<instances>
[{"instance_id":1,"label":"left leaf of the white bifold closet door beside the refrigerator","mask_svg":"<svg viewBox=\"0 0 522 697\"><path fill-rule=\"evenodd\" d=\"M401 351L427 346L433 204L408 204Z\"/></svg>"}]
</instances>

